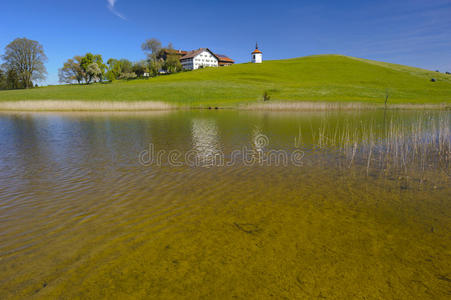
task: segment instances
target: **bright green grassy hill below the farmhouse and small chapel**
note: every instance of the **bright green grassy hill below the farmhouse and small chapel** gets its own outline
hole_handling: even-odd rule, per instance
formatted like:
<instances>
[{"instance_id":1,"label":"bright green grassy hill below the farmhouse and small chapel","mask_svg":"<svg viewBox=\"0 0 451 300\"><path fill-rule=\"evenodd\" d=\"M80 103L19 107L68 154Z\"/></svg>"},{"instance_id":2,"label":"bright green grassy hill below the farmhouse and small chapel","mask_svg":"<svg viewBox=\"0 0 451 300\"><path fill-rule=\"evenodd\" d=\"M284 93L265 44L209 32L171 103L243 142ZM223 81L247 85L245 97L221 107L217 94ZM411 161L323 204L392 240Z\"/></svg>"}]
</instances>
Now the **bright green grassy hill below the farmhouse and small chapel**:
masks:
<instances>
[{"instance_id":1,"label":"bright green grassy hill below the farmhouse and small chapel","mask_svg":"<svg viewBox=\"0 0 451 300\"><path fill-rule=\"evenodd\" d=\"M435 78L436 82L431 82ZM451 75L340 55L237 64L108 84L0 91L5 100L165 101L180 105L233 105L262 101L449 103Z\"/></svg>"}]
</instances>

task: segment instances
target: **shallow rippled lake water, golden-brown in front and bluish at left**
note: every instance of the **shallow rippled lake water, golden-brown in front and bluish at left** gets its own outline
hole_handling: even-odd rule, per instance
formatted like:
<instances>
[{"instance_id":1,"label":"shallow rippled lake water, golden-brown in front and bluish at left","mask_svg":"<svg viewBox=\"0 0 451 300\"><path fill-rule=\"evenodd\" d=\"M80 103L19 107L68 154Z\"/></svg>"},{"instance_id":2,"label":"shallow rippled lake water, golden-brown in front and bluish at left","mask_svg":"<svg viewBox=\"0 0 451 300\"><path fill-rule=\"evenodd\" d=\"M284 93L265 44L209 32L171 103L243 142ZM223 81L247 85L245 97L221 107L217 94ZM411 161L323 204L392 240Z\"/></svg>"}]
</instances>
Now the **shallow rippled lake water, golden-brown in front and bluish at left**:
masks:
<instances>
[{"instance_id":1,"label":"shallow rippled lake water, golden-brown in front and bluish at left","mask_svg":"<svg viewBox=\"0 0 451 300\"><path fill-rule=\"evenodd\" d=\"M381 163L393 123L441 154ZM0 298L446 299L449 127L419 111L1 114Z\"/></svg>"}]
</instances>

